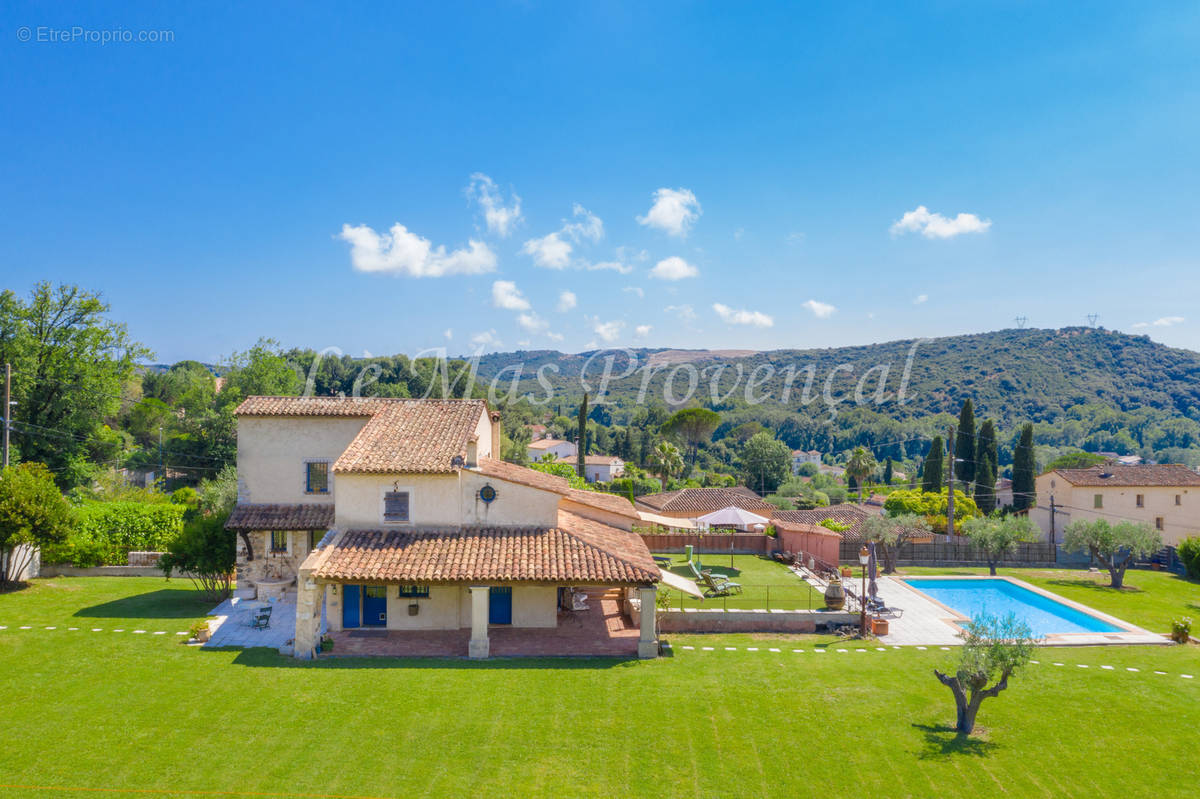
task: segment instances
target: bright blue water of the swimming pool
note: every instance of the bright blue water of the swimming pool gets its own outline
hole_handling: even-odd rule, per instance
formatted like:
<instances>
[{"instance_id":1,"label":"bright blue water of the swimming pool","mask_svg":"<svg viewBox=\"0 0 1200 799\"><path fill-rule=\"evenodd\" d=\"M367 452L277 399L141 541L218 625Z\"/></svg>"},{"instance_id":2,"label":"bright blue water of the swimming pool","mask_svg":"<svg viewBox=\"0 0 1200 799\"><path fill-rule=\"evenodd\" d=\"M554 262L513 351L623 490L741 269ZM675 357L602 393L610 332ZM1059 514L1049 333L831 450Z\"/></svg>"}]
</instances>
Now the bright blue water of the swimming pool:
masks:
<instances>
[{"instance_id":1,"label":"bright blue water of the swimming pool","mask_svg":"<svg viewBox=\"0 0 1200 799\"><path fill-rule=\"evenodd\" d=\"M931 596L967 618L982 613L1013 613L1034 636L1058 632L1121 632L1121 627L1076 611L1062 602L1021 588L1007 579L956 579L953 577L908 577L908 585Z\"/></svg>"}]
</instances>

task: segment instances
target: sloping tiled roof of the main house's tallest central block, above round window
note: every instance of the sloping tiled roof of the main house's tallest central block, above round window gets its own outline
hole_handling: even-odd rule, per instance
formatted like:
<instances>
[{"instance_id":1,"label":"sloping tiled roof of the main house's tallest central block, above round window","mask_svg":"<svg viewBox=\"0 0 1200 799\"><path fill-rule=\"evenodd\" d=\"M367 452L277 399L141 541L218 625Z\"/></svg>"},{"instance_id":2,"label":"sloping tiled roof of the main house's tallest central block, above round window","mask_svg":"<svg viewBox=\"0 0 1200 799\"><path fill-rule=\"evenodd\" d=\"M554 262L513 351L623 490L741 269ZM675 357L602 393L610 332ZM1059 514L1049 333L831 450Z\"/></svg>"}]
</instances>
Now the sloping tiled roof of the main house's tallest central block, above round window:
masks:
<instances>
[{"instance_id":1,"label":"sloping tiled roof of the main house's tallest central block, above round window","mask_svg":"<svg viewBox=\"0 0 1200 799\"><path fill-rule=\"evenodd\" d=\"M481 401L386 402L334 463L335 473L449 474L486 409Z\"/></svg>"}]
</instances>

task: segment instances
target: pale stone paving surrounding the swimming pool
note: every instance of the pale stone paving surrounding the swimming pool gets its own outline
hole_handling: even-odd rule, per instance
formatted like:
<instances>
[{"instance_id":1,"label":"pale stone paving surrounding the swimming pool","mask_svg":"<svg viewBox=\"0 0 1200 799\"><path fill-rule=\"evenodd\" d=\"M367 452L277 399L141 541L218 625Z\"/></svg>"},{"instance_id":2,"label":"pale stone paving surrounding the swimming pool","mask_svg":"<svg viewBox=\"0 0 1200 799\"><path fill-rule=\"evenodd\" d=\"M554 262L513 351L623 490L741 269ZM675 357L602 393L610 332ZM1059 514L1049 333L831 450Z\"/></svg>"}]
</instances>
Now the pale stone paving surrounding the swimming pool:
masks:
<instances>
[{"instance_id":1,"label":"pale stone paving surrounding the swimming pool","mask_svg":"<svg viewBox=\"0 0 1200 799\"><path fill-rule=\"evenodd\" d=\"M918 578L919 579L919 578ZM1148 630L1134 626L1128 621L1122 621L1106 613L1100 613L1096 608L1074 602L1066 596L1060 596L1051 591L1031 585L1024 581L1008 576L998 577L955 577L955 579L1006 579L1015 585L1020 585L1034 594L1040 594L1061 605L1074 608L1088 615L1108 621L1112 626L1120 627L1120 632L1070 632L1049 635L1043 641L1048 647L1104 647L1104 645L1129 645L1129 644L1157 644L1168 645L1170 641L1165 636L1156 635ZM917 582L914 579L913 582ZM952 647L962 643L959 637L959 624L968 619L953 608L942 605L937 600L923 594L919 589L905 582L905 578L880 577L876 581L878 595L888 607L904 609L904 615L890 620L890 630L880 641L887 644L906 647Z\"/></svg>"}]
</instances>

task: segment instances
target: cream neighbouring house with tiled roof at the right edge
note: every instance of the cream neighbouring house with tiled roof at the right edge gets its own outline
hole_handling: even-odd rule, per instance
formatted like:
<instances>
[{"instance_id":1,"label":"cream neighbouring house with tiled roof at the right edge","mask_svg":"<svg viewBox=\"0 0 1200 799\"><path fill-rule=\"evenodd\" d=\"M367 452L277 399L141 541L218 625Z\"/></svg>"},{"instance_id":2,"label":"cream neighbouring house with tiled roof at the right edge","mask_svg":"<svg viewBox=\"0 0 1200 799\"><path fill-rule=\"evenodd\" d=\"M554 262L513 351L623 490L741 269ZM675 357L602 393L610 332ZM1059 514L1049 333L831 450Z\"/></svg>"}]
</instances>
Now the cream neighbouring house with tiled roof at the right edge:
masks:
<instances>
[{"instance_id":1,"label":"cream neighbouring house with tiled roof at the right edge","mask_svg":"<svg viewBox=\"0 0 1200 799\"><path fill-rule=\"evenodd\" d=\"M1070 522L1097 518L1145 522L1168 546L1200 533L1200 474L1186 465L1055 469L1040 475L1036 486L1038 504L1030 518L1046 540L1062 541Z\"/></svg>"}]
</instances>

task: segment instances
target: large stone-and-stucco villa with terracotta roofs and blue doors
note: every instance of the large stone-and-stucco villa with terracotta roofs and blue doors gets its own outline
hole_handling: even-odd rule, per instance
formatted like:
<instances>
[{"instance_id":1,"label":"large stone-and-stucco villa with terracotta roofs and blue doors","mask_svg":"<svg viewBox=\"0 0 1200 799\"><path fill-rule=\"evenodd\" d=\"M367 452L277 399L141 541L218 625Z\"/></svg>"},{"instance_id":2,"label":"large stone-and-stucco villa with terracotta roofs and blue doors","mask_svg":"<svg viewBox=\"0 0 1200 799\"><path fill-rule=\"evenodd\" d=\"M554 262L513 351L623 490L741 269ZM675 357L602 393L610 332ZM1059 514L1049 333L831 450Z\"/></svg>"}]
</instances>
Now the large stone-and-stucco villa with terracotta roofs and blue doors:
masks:
<instances>
[{"instance_id":1,"label":"large stone-and-stucco villa with terracotta roofs and blue doors","mask_svg":"<svg viewBox=\"0 0 1200 799\"><path fill-rule=\"evenodd\" d=\"M298 657L319 645L323 617L335 642L358 629L455 631L438 641L486 657L497 630L554 636L584 587L654 607L660 572L629 531L630 503L494 458L499 414L482 401L250 397L236 414L226 527L239 590L295 597ZM637 654L656 654L653 612L630 632Z\"/></svg>"}]
</instances>

